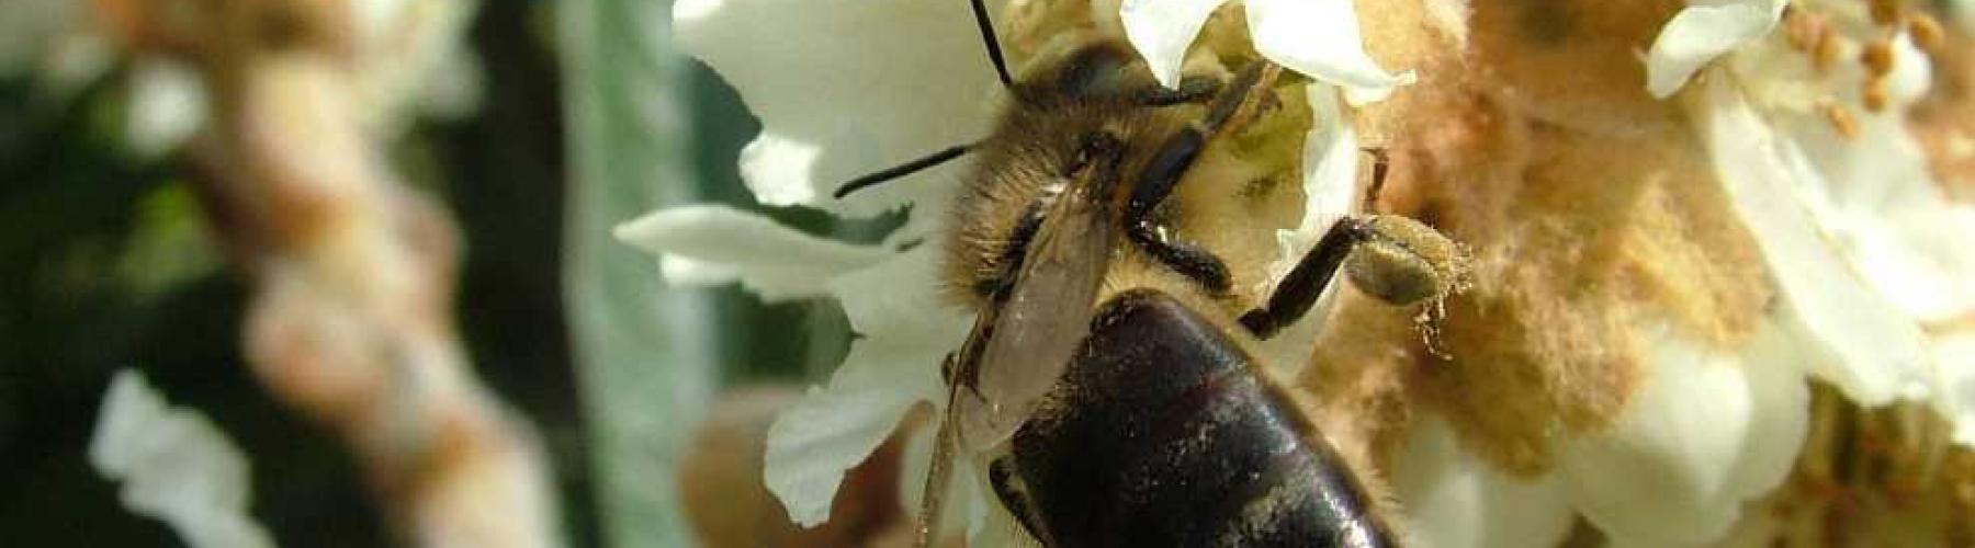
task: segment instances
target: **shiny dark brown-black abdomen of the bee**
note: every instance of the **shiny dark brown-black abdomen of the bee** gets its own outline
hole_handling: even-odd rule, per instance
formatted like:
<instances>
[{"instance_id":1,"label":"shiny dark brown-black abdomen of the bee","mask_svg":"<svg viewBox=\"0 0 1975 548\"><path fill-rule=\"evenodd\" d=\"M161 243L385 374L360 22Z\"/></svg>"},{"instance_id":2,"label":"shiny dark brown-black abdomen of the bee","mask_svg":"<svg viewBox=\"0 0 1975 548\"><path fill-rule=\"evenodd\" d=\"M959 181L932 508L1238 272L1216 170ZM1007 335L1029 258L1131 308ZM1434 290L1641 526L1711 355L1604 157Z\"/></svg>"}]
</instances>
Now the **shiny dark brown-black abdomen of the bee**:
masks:
<instances>
[{"instance_id":1,"label":"shiny dark brown-black abdomen of the bee","mask_svg":"<svg viewBox=\"0 0 1975 548\"><path fill-rule=\"evenodd\" d=\"M1365 491L1217 325L1157 290L1104 304L1001 489L1053 546L1388 546Z\"/></svg>"}]
</instances>

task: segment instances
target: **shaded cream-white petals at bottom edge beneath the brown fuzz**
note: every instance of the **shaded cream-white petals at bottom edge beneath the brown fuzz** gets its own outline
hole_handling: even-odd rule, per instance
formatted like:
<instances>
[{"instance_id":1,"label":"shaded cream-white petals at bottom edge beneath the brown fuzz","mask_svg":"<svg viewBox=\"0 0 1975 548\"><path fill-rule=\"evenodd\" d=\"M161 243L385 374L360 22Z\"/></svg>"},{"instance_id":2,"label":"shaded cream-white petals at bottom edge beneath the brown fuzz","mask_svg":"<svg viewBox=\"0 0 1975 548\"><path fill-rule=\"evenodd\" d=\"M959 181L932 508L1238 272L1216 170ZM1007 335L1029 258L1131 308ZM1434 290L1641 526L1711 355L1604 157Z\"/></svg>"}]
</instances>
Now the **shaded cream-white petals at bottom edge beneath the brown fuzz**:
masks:
<instances>
[{"instance_id":1,"label":"shaded cream-white petals at bottom edge beneath the brown fuzz","mask_svg":"<svg viewBox=\"0 0 1975 548\"><path fill-rule=\"evenodd\" d=\"M1540 477L1507 477L1442 420L1422 420L1392 471L1412 540L1554 546L1582 514L1612 546L1700 546L1781 485L1807 432L1809 386L1778 321L1732 353L1637 329L1653 349L1639 392L1608 430L1560 438L1558 465Z\"/></svg>"}]
</instances>

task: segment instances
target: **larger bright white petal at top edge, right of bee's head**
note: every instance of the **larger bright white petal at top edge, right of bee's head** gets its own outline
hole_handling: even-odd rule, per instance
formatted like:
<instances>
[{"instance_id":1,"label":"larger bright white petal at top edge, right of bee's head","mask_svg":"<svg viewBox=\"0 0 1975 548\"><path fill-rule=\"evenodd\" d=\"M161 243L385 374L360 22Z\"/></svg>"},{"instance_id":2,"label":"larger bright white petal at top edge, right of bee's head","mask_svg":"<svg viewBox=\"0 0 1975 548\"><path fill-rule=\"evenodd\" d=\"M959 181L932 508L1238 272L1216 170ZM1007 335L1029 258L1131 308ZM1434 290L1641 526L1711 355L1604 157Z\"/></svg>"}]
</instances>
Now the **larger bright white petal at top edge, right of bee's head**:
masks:
<instances>
[{"instance_id":1,"label":"larger bright white petal at top edge, right of bee's head","mask_svg":"<svg viewBox=\"0 0 1975 548\"><path fill-rule=\"evenodd\" d=\"M1416 81L1412 71L1386 73L1365 53L1351 0L1248 0L1248 34L1262 57L1343 87L1351 104L1382 101Z\"/></svg>"}]
</instances>

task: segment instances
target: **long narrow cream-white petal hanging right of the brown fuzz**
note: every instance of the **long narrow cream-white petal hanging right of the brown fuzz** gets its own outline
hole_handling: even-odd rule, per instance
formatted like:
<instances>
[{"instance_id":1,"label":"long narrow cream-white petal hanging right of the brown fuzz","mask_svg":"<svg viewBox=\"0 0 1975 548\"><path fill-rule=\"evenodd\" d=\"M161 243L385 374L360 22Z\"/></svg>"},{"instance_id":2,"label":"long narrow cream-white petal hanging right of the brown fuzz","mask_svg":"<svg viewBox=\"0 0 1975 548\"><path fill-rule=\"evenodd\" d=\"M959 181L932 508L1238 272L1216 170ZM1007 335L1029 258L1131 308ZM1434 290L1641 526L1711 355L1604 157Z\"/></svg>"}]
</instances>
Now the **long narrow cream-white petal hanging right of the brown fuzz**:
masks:
<instances>
[{"instance_id":1,"label":"long narrow cream-white petal hanging right of the brown fuzz","mask_svg":"<svg viewBox=\"0 0 1975 548\"><path fill-rule=\"evenodd\" d=\"M1797 168L1801 150L1779 142L1728 77L1708 81L1689 110L1700 120L1716 179L1776 276L1785 331L1805 343L1811 375L1866 406L1924 394L1920 327L1868 290L1809 217L1795 191L1797 177L1813 175Z\"/></svg>"}]
</instances>

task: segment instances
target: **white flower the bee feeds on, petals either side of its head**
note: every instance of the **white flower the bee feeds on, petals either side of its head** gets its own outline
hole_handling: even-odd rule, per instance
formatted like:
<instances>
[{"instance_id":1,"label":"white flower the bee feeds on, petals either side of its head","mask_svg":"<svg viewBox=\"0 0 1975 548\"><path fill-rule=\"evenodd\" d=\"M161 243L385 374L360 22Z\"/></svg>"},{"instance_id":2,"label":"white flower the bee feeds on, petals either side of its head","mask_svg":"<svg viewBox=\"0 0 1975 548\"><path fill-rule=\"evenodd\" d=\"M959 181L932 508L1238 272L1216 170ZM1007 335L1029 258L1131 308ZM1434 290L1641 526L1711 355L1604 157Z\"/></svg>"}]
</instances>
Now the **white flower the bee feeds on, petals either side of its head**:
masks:
<instances>
[{"instance_id":1,"label":"white flower the bee feeds on, petals either side of its head","mask_svg":"<svg viewBox=\"0 0 1975 548\"><path fill-rule=\"evenodd\" d=\"M1003 14L1003 2L988 4L991 14ZM1258 43L1268 43L1264 53L1321 81L1309 91L1323 114L1305 158L1305 168L1321 170L1321 177L1305 179L1305 189L1343 185L1341 197L1311 191L1305 217L1317 219L1284 233L1290 252L1313 244L1315 231L1327 227L1323 219L1343 215L1351 203L1359 152L1335 104L1337 89L1325 83L1379 97L1410 75L1386 75L1365 57L1349 2L1248 6ZM1181 39L1179 49L1146 51L1153 67L1173 71L1205 18L1205 12L1185 16L1193 20L1185 24L1144 2L1126 2L1122 10L1128 22L1191 26L1149 34ZM741 154L743 177L760 203L847 217L910 205L907 225L877 246L808 237L723 207L666 209L618 229L620 239L658 252L673 284L741 282L766 300L830 296L843 306L861 337L830 382L784 412L768 438L768 489L796 522L818 524L828 518L843 473L891 436L908 408L944 406L940 361L972 321L938 298L936 278L944 252L938 231L970 160L843 201L828 195L855 175L980 140L993 122L1001 89L966 2L681 0L673 22L679 43L733 83L762 122L760 136ZM1296 30L1298 24L1304 28ZM1327 32L1309 32L1311 26ZM1005 513L972 513L976 534L1005 532L978 522L982 514L1005 518Z\"/></svg>"}]
</instances>

